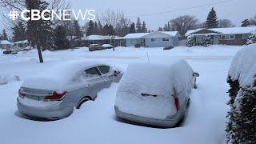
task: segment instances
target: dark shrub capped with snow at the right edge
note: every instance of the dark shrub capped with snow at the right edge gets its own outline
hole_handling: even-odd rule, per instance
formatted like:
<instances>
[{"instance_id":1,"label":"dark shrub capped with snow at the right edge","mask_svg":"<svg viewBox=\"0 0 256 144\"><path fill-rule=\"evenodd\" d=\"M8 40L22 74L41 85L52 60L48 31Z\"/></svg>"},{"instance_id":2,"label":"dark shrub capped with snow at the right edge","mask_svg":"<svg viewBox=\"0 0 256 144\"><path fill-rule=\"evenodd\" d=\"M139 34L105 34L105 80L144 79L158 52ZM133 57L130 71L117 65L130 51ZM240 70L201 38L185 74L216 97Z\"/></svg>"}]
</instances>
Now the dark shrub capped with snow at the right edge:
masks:
<instances>
[{"instance_id":1,"label":"dark shrub capped with snow at the right edge","mask_svg":"<svg viewBox=\"0 0 256 144\"><path fill-rule=\"evenodd\" d=\"M256 44L239 50L230 66L228 143L256 142Z\"/></svg>"}]
</instances>

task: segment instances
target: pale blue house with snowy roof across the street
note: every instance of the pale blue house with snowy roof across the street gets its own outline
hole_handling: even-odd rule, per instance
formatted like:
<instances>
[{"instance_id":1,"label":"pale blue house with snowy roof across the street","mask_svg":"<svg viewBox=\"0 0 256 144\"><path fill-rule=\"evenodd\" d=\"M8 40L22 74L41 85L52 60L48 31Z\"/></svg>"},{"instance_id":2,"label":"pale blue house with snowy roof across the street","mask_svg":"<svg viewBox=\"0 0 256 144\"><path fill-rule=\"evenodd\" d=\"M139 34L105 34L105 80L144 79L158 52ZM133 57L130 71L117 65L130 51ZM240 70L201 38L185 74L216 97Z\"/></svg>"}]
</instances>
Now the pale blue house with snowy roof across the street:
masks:
<instances>
[{"instance_id":1,"label":"pale blue house with snowy roof across the street","mask_svg":"<svg viewBox=\"0 0 256 144\"><path fill-rule=\"evenodd\" d=\"M126 46L139 44L144 47L178 46L178 31L154 31L152 33L127 34Z\"/></svg>"}]
</instances>

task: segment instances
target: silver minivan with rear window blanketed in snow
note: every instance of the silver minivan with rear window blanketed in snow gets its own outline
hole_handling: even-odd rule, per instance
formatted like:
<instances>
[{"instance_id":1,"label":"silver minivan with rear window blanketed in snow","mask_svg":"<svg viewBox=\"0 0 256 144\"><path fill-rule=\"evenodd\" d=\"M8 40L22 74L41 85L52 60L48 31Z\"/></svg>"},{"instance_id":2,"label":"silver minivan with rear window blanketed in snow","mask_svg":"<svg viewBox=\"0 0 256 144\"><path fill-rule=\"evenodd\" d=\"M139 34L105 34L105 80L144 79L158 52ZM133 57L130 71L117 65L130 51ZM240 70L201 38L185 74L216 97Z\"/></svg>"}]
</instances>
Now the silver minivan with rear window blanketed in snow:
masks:
<instances>
[{"instance_id":1,"label":"silver minivan with rear window blanketed in snow","mask_svg":"<svg viewBox=\"0 0 256 144\"><path fill-rule=\"evenodd\" d=\"M115 113L132 122L174 127L186 113L198 76L182 59L131 64L118 88Z\"/></svg>"}]
</instances>

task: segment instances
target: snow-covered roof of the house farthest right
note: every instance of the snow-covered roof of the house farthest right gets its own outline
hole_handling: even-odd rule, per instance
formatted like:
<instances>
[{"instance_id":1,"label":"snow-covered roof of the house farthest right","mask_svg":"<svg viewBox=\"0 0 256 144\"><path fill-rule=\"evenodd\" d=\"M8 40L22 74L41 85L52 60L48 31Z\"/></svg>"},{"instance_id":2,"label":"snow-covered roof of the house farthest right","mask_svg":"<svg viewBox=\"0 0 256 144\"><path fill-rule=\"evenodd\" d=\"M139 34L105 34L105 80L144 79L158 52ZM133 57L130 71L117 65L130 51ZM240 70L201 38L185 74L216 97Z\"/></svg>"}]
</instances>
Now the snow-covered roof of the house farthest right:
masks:
<instances>
[{"instance_id":1,"label":"snow-covered roof of the house farthest right","mask_svg":"<svg viewBox=\"0 0 256 144\"><path fill-rule=\"evenodd\" d=\"M185 35L188 36L201 30L212 30L220 34L248 34L250 32L256 31L256 26L188 30Z\"/></svg>"}]
</instances>

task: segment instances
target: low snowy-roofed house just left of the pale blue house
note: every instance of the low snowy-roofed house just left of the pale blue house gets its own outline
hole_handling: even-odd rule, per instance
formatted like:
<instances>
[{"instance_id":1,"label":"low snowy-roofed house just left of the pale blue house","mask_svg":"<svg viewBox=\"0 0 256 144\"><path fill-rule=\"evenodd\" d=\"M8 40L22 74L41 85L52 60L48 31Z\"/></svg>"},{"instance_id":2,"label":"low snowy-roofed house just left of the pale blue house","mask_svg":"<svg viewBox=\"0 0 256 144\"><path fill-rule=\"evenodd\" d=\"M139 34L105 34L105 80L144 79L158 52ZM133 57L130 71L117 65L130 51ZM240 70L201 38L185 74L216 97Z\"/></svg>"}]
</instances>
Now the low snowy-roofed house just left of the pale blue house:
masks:
<instances>
[{"instance_id":1,"label":"low snowy-roofed house just left of the pale blue house","mask_svg":"<svg viewBox=\"0 0 256 144\"><path fill-rule=\"evenodd\" d=\"M102 35L89 35L87 37L81 38L82 46L90 46L91 44L98 44L100 46L104 44L111 44L111 36ZM122 37L114 37L115 46L125 46L125 39Z\"/></svg>"}]
</instances>

